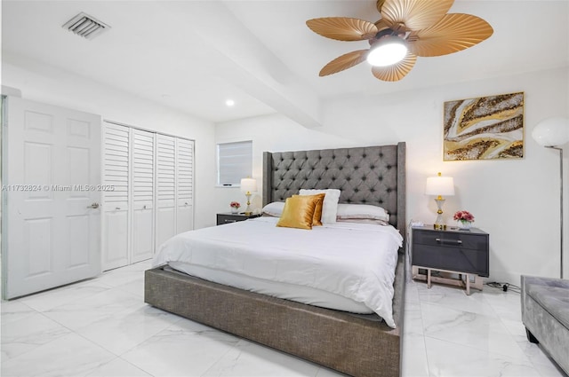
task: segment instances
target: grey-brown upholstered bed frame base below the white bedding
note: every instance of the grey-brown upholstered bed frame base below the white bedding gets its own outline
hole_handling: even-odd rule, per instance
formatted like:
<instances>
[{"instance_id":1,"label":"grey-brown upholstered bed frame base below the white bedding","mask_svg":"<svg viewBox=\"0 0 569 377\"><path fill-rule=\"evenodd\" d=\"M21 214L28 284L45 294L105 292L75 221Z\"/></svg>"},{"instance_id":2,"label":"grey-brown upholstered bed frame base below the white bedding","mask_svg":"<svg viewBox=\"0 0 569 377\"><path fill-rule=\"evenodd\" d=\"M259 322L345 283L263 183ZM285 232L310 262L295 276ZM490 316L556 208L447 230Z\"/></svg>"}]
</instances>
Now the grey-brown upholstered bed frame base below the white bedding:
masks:
<instances>
[{"instance_id":1,"label":"grey-brown upholstered bed frame base below the white bedding","mask_svg":"<svg viewBox=\"0 0 569 377\"><path fill-rule=\"evenodd\" d=\"M346 312L260 295L175 271L145 272L145 302L353 376L400 375L403 346L405 255L397 263L394 319Z\"/></svg>"}]
</instances>

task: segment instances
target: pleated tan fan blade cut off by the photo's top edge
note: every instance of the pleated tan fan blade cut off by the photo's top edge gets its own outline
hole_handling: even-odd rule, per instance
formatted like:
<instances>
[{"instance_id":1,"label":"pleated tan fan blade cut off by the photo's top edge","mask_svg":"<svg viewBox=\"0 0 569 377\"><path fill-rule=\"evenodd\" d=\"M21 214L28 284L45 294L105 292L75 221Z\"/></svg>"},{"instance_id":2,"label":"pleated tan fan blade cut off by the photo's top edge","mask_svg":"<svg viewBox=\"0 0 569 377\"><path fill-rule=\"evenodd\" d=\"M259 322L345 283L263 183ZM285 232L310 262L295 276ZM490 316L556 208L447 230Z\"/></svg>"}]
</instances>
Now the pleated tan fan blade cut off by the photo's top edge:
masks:
<instances>
[{"instance_id":1,"label":"pleated tan fan blade cut off by the photo's top edge","mask_svg":"<svg viewBox=\"0 0 569 377\"><path fill-rule=\"evenodd\" d=\"M400 24L406 30L421 30L442 19L453 3L454 0L385 0L381 17L394 30Z\"/></svg>"}]
</instances>

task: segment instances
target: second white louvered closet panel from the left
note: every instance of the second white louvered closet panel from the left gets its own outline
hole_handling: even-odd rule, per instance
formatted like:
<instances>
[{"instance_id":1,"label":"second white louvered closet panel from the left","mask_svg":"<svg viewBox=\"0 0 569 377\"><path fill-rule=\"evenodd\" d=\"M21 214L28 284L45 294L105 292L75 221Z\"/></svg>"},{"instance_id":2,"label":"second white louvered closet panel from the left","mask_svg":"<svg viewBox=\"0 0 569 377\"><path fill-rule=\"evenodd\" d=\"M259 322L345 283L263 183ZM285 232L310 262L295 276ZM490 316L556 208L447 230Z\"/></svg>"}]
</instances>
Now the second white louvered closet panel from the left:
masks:
<instances>
[{"instance_id":1,"label":"second white louvered closet panel from the left","mask_svg":"<svg viewBox=\"0 0 569 377\"><path fill-rule=\"evenodd\" d=\"M132 129L131 263L154 255L154 160L156 134Z\"/></svg>"}]
</instances>

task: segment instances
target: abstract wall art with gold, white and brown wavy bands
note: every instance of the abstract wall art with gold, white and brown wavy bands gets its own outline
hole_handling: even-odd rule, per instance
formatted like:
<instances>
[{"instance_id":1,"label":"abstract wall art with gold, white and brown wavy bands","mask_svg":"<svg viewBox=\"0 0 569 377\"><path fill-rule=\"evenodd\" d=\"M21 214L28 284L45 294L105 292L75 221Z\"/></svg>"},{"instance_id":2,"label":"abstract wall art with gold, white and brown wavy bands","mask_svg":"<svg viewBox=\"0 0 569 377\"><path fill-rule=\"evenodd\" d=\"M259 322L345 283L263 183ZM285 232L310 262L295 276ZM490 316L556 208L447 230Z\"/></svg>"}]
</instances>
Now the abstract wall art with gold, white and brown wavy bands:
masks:
<instances>
[{"instance_id":1,"label":"abstract wall art with gold, white and brown wavy bands","mask_svg":"<svg viewBox=\"0 0 569 377\"><path fill-rule=\"evenodd\" d=\"M524 157L524 93L445 102L444 161Z\"/></svg>"}]
</instances>

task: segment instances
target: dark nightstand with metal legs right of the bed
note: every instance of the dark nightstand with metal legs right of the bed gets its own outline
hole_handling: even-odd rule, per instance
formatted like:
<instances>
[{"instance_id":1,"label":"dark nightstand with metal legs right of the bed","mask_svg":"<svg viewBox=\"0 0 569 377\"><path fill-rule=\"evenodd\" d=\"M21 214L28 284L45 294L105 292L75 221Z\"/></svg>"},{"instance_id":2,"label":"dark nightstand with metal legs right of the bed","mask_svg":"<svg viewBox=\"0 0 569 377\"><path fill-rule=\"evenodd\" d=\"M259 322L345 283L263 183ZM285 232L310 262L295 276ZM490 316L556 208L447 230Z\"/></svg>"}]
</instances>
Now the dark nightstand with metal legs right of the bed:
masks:
<instances>
[{"instance_id":1,"label":"dark nightstand with metal legs right of the bed","mask_svg":"<svg viewBox=\"0 0 569 377\"><path fill-rule=\"evenodd\" d=\"M445 231L435 230L432 225L413 226L411 233L411 264L413 279L452 284L482 290L481 277L489 275L489 235L478 228L463 230L449 227ZM421 271L422 270L422 271ZM441 275L458 274L459 279L444 276L431 276L431 271ZM462 275L466 275L465 282ZM470 283L470 278L474 283Z\"/></svg>"}]
</instances>

